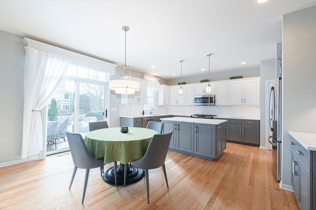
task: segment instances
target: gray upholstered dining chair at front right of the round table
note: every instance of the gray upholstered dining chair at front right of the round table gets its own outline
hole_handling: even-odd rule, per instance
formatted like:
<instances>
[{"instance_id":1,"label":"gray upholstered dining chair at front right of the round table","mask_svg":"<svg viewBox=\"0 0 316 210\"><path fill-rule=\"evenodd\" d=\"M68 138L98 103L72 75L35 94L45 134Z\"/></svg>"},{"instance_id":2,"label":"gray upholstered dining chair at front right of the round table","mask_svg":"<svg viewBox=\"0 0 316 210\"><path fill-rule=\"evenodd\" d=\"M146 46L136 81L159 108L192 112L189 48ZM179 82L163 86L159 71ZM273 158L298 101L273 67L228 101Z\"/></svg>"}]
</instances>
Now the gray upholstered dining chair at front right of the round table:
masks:
<instances>
[{"instance_id":1,"label":"gray upholstered dining chair at front right of the round table","mask_svg":"<svg viewBox=\"0 0 316 210\"><path fill-rule=\"evenodd\" d=\"M148 169L155 169L162 166L164 179L166 180L167 188L169 189L166 168L164 161L167 156L168 147L170 144L172 130L165 134L155 134L150 141L144 156L138 160L133 160L133 166L145 169L147 203L149 204L149 176Z\"/></svg>"}]
</instances>

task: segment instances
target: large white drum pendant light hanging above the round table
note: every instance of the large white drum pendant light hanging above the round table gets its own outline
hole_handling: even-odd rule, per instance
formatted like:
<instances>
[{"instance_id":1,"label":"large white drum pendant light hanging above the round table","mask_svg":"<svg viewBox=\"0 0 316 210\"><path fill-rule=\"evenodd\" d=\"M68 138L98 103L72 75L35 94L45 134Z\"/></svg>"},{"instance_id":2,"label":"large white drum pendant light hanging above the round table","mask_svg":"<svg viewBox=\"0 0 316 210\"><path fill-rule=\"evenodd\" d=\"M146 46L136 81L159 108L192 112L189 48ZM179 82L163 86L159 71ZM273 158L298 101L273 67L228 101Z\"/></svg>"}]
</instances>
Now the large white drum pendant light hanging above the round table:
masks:
<instances>
[{"instance_id":1,"label":"large white drum pendant light hanging above the round table","mask_svg":"<svg viewBox=\"0 0 316 210\"><path fill-rule=\"evenodd\" d=\"M131 69L130 66L126 65L126 31L129 30L129 27L123 26L122 30L125 31L125 63L122 65L122 78L120 80L110 80L109 87L110 90L115 90L116 94L134 94L135 91L140 90L140 84L130 79ZM125 69L129 70L129 80L123 79Z\"/></svg>"}]
</instances>

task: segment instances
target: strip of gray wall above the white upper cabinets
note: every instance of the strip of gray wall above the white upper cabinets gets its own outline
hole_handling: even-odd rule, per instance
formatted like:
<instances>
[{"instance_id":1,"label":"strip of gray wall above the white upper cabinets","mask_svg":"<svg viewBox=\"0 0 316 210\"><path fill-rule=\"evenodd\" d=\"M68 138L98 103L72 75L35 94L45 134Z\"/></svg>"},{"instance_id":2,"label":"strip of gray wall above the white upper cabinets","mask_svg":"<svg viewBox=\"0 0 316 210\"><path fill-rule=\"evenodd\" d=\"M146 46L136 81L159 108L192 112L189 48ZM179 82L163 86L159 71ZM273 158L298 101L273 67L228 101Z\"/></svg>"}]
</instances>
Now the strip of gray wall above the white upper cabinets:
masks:
<instances>
[{"instance_id":1,"label":"strip of gray wall above the white upper cabinets","mask_svg":"<svg viewBox=\"0 0 316 210\"><path fill-rule=\"evenodd\" d=\"M220 80L229 80L231 76L243 76L246 77L258 77L260 76L260 68L249 68L249 69L237 69L232 71L225 72L210 72L210 80L211 81L220 81ZM198 75L195 77L182 77L182 82L186 82L187 84L199 83L200 80L208 79L208 71L205 71L205 74ZM180 82L180 78L168 80L166 85L178 85Z\"/></svg>"}]
</instances>

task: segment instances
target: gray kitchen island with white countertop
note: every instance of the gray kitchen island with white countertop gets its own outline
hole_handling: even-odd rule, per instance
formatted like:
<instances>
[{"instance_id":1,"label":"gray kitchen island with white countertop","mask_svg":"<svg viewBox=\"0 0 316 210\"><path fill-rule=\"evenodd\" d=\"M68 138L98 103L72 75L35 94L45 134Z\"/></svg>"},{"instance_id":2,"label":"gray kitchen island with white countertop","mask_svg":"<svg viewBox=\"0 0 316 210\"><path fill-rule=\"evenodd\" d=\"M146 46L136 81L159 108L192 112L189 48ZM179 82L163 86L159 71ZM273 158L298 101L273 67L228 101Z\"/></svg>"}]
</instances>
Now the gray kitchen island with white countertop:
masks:
<instances>
[{"instance_id":1,"label":"gray kitchen island with white countertop","mask_svg":"<svg viewBox=\"0 0 316 210\"><path fill-rule=\"evenodd\" d=\"M173 130L169 150L213 160L226 149L227 120L162 118L163 133Z\"/></svg>"}]
</instances>

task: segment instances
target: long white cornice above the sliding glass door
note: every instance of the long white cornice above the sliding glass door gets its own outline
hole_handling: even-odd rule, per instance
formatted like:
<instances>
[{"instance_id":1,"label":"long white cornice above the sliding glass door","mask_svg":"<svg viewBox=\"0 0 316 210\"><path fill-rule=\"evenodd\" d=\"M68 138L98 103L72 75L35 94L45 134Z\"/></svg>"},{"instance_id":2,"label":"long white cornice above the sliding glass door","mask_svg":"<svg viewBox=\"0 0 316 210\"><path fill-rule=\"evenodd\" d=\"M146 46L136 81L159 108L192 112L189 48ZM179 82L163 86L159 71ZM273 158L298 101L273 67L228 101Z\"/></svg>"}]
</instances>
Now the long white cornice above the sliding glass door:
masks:
<instances>
[{"instance_id":1,"label":"long white cornice above the sliding glass door","mask_svg":"<svg viewBox=\"0 0 316 210\"><path fill-rule=\"evenodd\" d=\"M24 37L23 42L26 44L26 46L35 48L40 51L55 53L61 56L69 57L72 60L72 64L86 67L89 69L115 74L115 68L118 66L116 64L104 60L95 59L89 56L85 56L79 53L72 52L70 50L65 50L63 48L45 44L26 37Z\"/></svg>"}]
</instances>

